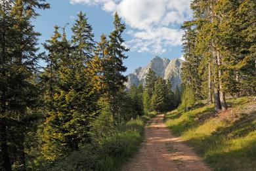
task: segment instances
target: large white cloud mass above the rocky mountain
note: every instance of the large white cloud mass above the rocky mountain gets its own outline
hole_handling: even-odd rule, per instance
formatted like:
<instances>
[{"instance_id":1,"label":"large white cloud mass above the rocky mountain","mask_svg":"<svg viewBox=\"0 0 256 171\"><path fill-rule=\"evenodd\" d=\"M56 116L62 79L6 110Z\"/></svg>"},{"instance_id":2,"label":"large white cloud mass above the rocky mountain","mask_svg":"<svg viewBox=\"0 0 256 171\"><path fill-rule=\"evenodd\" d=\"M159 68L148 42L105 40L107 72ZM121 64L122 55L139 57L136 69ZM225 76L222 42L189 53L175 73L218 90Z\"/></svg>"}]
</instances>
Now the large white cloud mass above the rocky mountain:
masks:
<instances>
[{"instance_id":1,"label":"large white cloud mass above the rocky mountain","mask_svg":"<svg viewBox=\"0 0 256 171\"><path fill-rule=\"evenodd\" d=\"M70 0L70 3L117 11L133 29L127 31L132 37L127 41L131 50L156 54L181 45L183 32L177 28L192 16L190 0Z\"/></svg>"}]
</instances>

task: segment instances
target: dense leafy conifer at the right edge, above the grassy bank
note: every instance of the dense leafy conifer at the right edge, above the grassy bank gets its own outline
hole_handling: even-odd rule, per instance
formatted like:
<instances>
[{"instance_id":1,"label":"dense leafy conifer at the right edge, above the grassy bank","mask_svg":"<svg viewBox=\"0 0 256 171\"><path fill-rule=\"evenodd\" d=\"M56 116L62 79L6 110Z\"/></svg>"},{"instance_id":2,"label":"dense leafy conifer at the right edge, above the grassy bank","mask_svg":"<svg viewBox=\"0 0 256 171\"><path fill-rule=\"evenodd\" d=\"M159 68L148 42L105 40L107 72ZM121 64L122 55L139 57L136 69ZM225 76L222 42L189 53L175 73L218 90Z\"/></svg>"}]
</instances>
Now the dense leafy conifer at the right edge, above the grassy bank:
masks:
<instances>
[{"instance_id":1,"label":"dense leafy conifer at the right edge, above the grassy bank","mask_svg":"<svg viewBox=\"0 0 256 171\"><path fill-rule=\"evenodd\" d=\"M250 31L255 30L251 27L253 20L255 22L253 8L255 9L254 1L219 1L216 6L217 13L222 14L219 35L222 37L221 57L225 63L223 84L226 91L231 94L236 93L237 97L244 90L249 89L249 92L255 92L252 88L255 87L255 82L252 81L255 73L253 69L255 58L251 56L250 51L251 45L253 47L255 43L253 39L247 39L247 37L253 37L254 34ZM240 75L246 76L240 77ZM245 86L246 80L250 82L249 86Z\"/></svg>"}]
</instances>

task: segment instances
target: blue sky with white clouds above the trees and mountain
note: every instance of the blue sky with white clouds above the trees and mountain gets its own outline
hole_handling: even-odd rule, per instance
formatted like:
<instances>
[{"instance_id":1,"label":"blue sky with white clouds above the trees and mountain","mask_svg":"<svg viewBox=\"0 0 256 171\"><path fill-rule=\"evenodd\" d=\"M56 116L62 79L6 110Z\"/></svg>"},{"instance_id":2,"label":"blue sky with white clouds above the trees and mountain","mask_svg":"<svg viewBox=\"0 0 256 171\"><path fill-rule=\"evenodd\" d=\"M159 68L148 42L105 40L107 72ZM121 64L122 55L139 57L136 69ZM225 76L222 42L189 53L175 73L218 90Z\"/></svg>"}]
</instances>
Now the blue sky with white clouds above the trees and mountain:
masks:
<instances>
[{"instance_id":1,"label":"blue sky with white clouds above the trees and mountain","mask_svg":"<svg viewBox=\"0 0 256 171\"><path fill-rule=\"evenodd\" d=\"M113 30L114 12L118 12L127 29L123 34L125 45L131 48L124 61L127 73L145 66L154 56L169 59L182 56L180 29L191 16L190 0L47 0L51 9L40 10L41 16L33 21L41 33L39 43L44 43L53 33L53 26L70 28L80 10L87 14L93 26L95 41L102 33Z\"/></svg>"}]
</instances>

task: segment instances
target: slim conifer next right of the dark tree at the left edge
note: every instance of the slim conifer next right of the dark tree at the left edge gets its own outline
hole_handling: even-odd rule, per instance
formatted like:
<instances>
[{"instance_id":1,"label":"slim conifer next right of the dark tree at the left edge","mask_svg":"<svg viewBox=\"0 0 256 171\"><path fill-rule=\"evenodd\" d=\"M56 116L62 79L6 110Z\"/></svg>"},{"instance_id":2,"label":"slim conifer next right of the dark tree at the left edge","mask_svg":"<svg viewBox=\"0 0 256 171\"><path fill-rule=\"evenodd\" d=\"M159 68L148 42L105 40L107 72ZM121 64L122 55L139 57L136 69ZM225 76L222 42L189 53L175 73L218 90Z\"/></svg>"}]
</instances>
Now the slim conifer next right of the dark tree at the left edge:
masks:
<instances>
[{"instance_id":1,"label":"slim conifer next right of the dark tree at the left edge","mask_svg":"<svg viewBox=\"0 0 256 171\"><path fill-rule=\"evenodd\" d=\"M41 150L45 158L51 161L56 159L58 155L62 155L65 150L64 144L62 144L64 140L60 141L62 123L58 115L56 115L56 98L54 98L56 94L60 93L58 88L60 75L58 71L60 69L60 61L63 60L63 51L60 50L66 51L61 45L64 39L61 40L62 35L59 33L58 29L58 26L54 26L53 36L44 44L49 54L46 58L47 67L42 77L43 84L45 85L45 111L47 113L47 119L43 123L43 134L41 135L43 145Z\"/></svg>"}]
</instances>

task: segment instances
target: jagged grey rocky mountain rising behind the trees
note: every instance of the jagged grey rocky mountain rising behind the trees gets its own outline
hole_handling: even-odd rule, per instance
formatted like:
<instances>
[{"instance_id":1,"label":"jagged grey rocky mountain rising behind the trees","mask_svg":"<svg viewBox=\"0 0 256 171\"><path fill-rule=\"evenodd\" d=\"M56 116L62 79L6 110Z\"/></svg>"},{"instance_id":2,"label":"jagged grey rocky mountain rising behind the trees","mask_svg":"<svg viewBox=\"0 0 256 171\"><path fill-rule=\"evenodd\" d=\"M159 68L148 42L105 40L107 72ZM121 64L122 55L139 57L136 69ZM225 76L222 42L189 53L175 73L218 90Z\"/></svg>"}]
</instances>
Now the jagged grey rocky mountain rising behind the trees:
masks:
<instances>
[{"instance_id":1,"label":"jagged grey rocky mountain rising behind the trees","mask_svg":"<svg viewBox=\"0 0 256 171\"><path fill-rule=\"evenodd\" d=\"M167 58L160 58L156 56L153 58L146 67L139 67L135 71L127 76L127 83L125 86L131 88L132 85L145 84L146 75L149 69L152 69L157 76L162 77L165 80L170 80L173 88L181 85L181 65L182 60L175 59L169 60Z\"/></svg>"}]
</instances>

